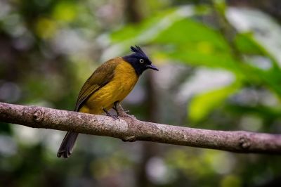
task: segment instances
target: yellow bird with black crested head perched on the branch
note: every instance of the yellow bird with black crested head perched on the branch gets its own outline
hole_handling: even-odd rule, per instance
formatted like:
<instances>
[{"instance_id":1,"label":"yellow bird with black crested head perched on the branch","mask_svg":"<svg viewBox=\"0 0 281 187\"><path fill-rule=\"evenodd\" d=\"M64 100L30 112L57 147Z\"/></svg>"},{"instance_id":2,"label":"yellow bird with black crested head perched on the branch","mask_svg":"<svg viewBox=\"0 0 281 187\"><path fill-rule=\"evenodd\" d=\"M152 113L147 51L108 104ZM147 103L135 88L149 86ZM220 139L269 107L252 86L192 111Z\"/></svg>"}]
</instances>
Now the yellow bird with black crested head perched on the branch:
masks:
<instances>
[{"instance_id":1,"label":"yellow bird with black crested head perched on the branch","mask_svg":"<svg viewBox=\"0 0 281 187\"><path fill-rule=\"evenodd\" d=\"M148 69L158 71L141 47L131 46L131 52L128 56L107 60L93 72L79 92L74 111L95 115L105 113L119 119L117 107L124 112L120 102L131 92L142 73ZM108 112L111 108L117 115ZM77 136L77 132L67 131L58 149L58 157L70 157Z\"/></svg>"}]
</instances>

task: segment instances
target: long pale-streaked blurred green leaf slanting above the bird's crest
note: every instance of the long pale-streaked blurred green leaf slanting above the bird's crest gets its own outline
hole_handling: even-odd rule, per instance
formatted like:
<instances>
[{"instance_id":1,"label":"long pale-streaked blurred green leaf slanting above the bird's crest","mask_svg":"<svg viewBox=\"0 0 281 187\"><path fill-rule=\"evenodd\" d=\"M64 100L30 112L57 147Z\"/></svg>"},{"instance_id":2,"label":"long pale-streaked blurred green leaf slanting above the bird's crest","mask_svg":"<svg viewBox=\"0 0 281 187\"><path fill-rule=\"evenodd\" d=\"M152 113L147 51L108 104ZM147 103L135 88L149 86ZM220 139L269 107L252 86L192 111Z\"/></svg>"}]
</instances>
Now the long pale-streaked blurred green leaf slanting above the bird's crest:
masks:
<instances>
[{"instance_id":1,"label":"long pale-streaked blurred green leaf slanting above the bird's crest","mask_svg":"<svg viewBox=\"0 0 281 187\"><path fill-rule=\"evenodd\" d=\"M178 6L176 8L169 8L138 24L127 25L120 30L110 33L107 39L109 39L112 44L107 51L109 51L108 53L112 53L112 51L119 51L119 53L122 53L122 51L128 49L128 46L133 44L147 45L152 42L153 44L157 44L155 39L158 35L169 29L169 27L173 27L175 22L194 15L203 15L208 11L209 6L204 6L204 8L200 6ZM117 53L115 53L115 55L117 55Z\"/></svg>"}]
</instances>

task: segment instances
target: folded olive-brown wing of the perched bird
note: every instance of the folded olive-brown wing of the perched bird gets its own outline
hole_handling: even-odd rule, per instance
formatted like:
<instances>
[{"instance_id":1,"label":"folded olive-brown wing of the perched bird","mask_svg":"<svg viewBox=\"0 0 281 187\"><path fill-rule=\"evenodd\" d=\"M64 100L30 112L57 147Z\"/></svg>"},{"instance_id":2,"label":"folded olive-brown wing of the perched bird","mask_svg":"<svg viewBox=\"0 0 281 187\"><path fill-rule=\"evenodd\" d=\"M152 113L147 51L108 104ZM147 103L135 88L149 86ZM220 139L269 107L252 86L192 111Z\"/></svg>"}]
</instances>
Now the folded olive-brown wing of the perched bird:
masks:
<instances>
[{"instance_id":1,"label":"folded olive-brown wing of the perched bird","mask_svg":"<svg viewBox=\"0 0 281 187\"><path fill-rule=\"evenodd\" d=\"M117 65L115 58L108 60L100 65L98 69L86 80L81 88L77 102L75 105L75 111L78 111L86 100L100 88L105 86L114 77L115 67Z\"/></svg>"}]
</instances>

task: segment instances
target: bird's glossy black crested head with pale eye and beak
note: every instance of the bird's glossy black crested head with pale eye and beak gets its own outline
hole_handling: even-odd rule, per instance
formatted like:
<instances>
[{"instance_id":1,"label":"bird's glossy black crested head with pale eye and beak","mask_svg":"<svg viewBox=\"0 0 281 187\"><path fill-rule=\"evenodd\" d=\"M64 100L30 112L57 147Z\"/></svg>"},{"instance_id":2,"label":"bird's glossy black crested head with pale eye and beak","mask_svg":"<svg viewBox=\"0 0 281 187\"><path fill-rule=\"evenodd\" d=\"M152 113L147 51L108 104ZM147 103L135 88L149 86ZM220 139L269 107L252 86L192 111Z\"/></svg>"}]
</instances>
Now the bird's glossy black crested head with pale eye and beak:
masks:
<instances>
[{"instance_id":1,"label":"bird's glossy black crested head with pale eye and beak","mask_svg":"<svg viewBox=\"0 0 281 187\"><path fill-rule=\"evenodd\" d=\"M133 54L129 56L123 56L123 59L128 63L131 63L133 68L136 70L136 74L141 75L145 70L152 69L157 70L155 65L152 65L148 56L145 55L143 50L139 46L131 46L131 51Z\"/></svg>"}]
</instances>

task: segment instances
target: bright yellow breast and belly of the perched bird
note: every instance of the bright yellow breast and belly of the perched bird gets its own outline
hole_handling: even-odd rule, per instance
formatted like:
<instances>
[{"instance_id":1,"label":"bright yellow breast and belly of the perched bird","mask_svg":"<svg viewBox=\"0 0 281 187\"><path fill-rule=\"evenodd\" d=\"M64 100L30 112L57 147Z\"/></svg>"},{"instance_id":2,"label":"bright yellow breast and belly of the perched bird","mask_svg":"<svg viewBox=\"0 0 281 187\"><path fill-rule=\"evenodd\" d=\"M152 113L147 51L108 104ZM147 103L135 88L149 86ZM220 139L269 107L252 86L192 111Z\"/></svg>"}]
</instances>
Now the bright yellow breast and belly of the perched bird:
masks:
<instances>
[{"instance_id":1,"label":"bright yellow breast and belly of the perched bird","mask_svg":"<svg viewBox=\"0 0 281 187\"><path fill-rule=\"evenodd\" d=\"M124 100L137 81L138 75L136 75L136 71L131 64L124 60L119 60L112 80L93 93L79 111L101 114L103 113L103 108L110 110L116 101L121 102Z\"/></svg>"}]
</instances>

